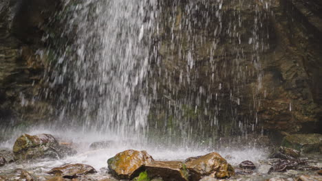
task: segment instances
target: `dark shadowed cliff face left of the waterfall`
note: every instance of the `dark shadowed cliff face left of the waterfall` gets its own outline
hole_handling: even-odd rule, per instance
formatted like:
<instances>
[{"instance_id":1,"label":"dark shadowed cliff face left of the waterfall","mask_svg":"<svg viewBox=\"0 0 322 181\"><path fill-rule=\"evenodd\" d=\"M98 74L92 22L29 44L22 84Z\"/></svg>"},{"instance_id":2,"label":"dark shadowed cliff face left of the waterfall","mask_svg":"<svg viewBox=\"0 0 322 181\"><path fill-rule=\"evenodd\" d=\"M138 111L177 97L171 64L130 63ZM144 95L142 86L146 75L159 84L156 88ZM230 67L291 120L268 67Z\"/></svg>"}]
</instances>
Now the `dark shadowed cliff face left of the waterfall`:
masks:
<instances>
[{"instance_id":1,"label":"dark shadowed cliff face left of the waterfall","mask_svg":"<svg viewBox=\"0 0 322 181\"><path fill-rule=\"evenodd\" d=\"M47 57L44 29L58 1L0 1L0 121L24 126L47 119L52 108L39 98Z\"/></svg>"}]
</instances>

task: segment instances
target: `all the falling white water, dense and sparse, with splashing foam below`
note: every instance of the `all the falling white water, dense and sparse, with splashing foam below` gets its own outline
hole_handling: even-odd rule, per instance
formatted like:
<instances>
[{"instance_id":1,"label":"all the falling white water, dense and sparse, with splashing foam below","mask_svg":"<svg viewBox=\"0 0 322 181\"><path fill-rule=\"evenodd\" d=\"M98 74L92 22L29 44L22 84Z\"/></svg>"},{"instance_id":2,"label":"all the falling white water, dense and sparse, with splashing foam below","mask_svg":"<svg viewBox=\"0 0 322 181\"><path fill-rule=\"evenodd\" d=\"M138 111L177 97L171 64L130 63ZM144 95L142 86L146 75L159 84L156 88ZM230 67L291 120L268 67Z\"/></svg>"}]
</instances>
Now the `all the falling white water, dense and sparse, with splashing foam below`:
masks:
<instances>
[{"instance_id":1,"label":"all the falling white water, dense and sparse, with splashing foam below","mask_svg":"<svg viewBox=\"0 0 322 181\"><path fill-rule=\"evenodd\" d=\"M183 160L214 151L217 132L228 129L230 134L237 129L245 136L252 128L260 130L256 116L256 91L261 88L262 76L259 56L267 49L268 38L261 32L265 29L261 19L269 16L270 1L258 1L258 5L248 2L173 1L169 5L157 0L66 1L63 12L57 15L65 25L63 32L44 51L54 60L45 74L50 86L41 96L55 99L57 119L50 127L34 127L28 133L58 135L79 143L82 152L37 164L52 167L77 161L100 169L106 167L107 158L125 149L147 149L160 160ZM248 47L241 44L244 37L239 34L244 31L240 29L248 28L241 10L236 8L227 15L229 4L257 8L251 14L253 27L247 30L251 32ZM264 8L259 8L260 4ZM211 11L202 12L208 9ZM200 12L202 21L194 19ZM202 27L211 32L197 33ZM211 34L211 43L204 34ZM211 56L205 65L209 69L201 75L203 68L198 66L202 58L195 52L203 50ZM164 52L171 56L160 56ZM245 68L245 59L251 69ZM177 67L164 71L164 64L170 66L171 61ZM202 76L206 77L204 83L200 83ZM253 77L257 84L250 100L251 116L241 119L237 107L246 98L239 90ZM151 114L152 110L156 113ZM166 116L159 120L160 112ZM118 144L87 152L90 143L102 140ZM206 148L196 146L202 141ZM12 141L6 146L12 147ZM266 156L250 145L242 151L227 150L220 153L235 155L230 160L233 164L249 156L255 162Z\"/></svg>"}]
</instances>

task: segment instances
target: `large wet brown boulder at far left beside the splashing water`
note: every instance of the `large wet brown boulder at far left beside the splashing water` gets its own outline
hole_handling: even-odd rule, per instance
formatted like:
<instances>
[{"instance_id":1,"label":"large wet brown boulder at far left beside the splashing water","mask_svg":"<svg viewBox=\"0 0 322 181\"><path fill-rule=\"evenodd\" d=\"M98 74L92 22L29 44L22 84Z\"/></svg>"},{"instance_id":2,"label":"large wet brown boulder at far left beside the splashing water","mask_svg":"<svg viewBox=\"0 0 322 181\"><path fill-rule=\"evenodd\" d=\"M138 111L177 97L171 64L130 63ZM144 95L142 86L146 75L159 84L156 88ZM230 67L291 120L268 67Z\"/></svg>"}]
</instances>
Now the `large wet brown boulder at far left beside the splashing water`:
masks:
<instances>
[{"instance_id":1,"label":"large wet brown boulder at far left beside the splashing water","mask_svg":"<svg viewBox=\"0 0 322 181\"><path fill-rule=\"evenodd\" d=\"M23 134L14 143L14 160L31 160L36 158L62 158L76 154L74 149L59 145L54 136L39 134L30 136Z\"/></svg>"}]
</instances>

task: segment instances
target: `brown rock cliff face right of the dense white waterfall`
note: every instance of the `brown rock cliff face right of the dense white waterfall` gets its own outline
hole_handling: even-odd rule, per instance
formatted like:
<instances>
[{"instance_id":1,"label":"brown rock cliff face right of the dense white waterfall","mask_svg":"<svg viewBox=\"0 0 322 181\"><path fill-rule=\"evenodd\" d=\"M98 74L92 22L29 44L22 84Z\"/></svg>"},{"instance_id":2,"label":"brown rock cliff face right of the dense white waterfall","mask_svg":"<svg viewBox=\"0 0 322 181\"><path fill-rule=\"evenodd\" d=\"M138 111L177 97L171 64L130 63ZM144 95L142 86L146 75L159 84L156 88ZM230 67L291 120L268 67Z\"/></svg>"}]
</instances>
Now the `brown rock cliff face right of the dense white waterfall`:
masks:
<instances>
[{"instance_id":1,"label":"brown rock cliff face right of the dense white waterfall","mask_svg":"<svg viewBox=\"0 0 322 181\"><path fill-rule=\"evenodd\" d=\"M164 2L151 128L321 130L321 3L270 2Z\"/></svg>"}]
</instances>

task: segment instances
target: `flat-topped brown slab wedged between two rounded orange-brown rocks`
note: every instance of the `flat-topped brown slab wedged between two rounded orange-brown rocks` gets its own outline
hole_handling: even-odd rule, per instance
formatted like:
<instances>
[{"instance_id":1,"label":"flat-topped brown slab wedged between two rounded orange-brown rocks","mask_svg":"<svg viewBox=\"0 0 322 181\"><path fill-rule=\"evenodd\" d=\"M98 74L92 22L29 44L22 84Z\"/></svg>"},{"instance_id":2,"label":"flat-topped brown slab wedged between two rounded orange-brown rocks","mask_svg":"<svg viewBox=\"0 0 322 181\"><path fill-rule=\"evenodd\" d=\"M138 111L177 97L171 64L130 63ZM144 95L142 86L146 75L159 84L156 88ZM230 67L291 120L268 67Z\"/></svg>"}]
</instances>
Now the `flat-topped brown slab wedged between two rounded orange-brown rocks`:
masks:
<instances>
[{"instance_id":1,"label":"flat-topped brown slab wedged between two rounded orange-brown rocks","mask_svg":"<svg viewBox=\"0 0 322 181\"><path fill-rule=\"evenodd\" d=\"M179 161L155 161L146 165L145 168L149 177L160 177L164 181L186 181L189 177L183 162Z\"/></svg>"}]
</instances>

